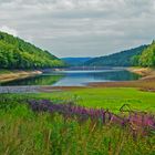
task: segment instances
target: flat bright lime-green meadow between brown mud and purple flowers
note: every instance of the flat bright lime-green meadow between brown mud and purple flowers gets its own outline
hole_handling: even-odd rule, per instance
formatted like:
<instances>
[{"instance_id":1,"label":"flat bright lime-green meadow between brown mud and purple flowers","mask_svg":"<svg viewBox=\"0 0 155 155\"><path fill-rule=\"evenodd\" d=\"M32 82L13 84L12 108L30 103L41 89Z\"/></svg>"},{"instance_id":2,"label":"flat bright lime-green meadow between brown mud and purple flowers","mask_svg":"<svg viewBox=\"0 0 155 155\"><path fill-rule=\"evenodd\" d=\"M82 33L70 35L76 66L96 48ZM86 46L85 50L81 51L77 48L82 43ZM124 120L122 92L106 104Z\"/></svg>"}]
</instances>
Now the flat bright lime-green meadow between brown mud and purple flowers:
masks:
<instances>
[{"instance_id":1,"label":"flat bright lime-green meadow between brown mud and purple flowers","mask_svg":"<svg viewBox=\"0 0 155 155\"><path fill-rule=\"evenodd\" d=\"M19 97L19 94L12 94ZM50 99L53 101L73 101L87 107L103 107L117 113L124 104L133 110L155 113L155 93L142 92L136 89L78 89L72 91L24 94L20 97Z\"/></svg>"}]
</instances>

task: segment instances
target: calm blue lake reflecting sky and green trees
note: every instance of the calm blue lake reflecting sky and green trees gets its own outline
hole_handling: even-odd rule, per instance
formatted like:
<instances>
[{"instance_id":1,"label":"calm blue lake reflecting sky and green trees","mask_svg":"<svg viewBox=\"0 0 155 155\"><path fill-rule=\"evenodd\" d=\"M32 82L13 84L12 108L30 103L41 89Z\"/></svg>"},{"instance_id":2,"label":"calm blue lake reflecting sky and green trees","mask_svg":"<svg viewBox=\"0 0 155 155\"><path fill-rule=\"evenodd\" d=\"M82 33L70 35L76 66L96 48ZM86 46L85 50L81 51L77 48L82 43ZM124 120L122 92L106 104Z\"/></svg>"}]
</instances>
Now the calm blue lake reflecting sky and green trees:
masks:
<instances>
[{"instance_id":1,"label":"calm blue lake reflecting sky and green trees","mask_svg":"<svg viewBox=\"0 0 155 155\"><path fill-rule=\"evenodd\" d=\"M90 82L132 81L141 76L126 70L54 71L22 80L1 83L9 85L83 86Z\"/></svg>"}]
</instances>

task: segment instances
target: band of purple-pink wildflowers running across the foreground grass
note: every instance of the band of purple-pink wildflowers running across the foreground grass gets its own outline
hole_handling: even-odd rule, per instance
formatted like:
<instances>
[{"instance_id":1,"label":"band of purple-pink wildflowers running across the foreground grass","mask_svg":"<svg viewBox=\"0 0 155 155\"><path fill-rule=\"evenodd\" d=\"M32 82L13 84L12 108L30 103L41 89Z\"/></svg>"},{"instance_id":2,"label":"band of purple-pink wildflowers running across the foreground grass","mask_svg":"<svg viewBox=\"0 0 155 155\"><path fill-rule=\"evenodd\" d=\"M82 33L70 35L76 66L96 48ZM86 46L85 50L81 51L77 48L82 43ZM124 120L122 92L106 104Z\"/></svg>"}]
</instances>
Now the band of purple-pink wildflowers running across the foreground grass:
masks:
<instances>
[{"instance_id":1,"label":"band of purple-pink wildflowers running across the foreground grass","mask_svg":"<svg viewBox=\"0 0 155 155\"><path fill-rule=\"evenodd\" d=\"M102 124L114 123L122 126L128 125L131 128L151 128L155 130L155 116L147 113L131 111L128 115L120 116L108 112L107 110L87 108L74 103L55 104L49 100L30 100L28 104L34 112L59 113L64 118L76 117L78 121L95 121Z\"/></svg>"}]
</instances>

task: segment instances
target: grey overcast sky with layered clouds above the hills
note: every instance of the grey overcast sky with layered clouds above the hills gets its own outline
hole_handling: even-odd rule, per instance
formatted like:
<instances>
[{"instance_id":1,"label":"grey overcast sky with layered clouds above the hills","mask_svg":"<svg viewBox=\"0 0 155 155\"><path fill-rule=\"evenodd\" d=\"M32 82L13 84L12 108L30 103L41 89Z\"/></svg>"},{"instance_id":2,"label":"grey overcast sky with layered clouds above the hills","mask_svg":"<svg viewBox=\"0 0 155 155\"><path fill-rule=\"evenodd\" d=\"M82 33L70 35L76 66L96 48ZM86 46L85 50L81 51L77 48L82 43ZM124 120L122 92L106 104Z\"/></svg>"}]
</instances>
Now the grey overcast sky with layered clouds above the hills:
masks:
<instances>
[{"instance_id":1,"label":"grey overcast sky with layered clouds above the hills","mask_svg":"<svg viewBox=\"0 0 155 155\"><path fill-rule=\"evenodd\" d=\"M0 0L0 30L56 56L105 55L155 39L155 0Z\"/></svg>"}]
</instances>

